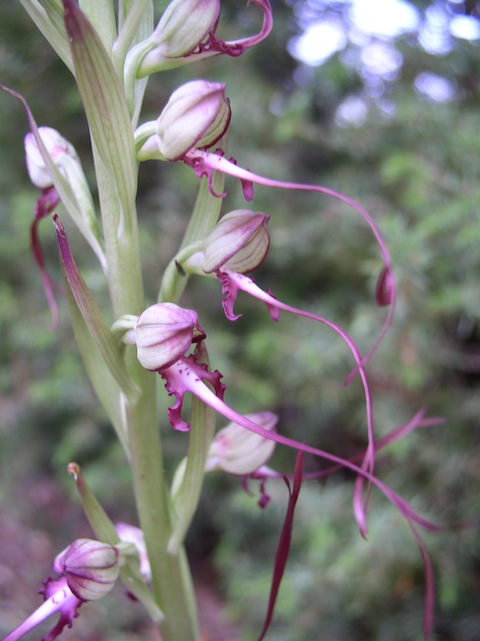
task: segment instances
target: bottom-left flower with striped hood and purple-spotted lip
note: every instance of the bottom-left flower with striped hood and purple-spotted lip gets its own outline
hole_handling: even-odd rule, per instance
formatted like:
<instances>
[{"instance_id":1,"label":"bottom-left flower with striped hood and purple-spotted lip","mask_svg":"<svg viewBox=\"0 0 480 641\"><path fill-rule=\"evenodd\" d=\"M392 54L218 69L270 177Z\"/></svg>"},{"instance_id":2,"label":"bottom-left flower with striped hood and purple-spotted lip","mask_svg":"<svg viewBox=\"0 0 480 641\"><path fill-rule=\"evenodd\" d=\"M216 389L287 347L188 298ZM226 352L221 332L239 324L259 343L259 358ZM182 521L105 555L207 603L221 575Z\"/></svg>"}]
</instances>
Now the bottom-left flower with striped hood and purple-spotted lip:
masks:
<instances>
[{"instance_id":1,"label":"bottom-left flower with striped hood and purple-spotted lip","mask_svg":"<svg viewBox=\"0 0 480 641\"><path fill-rule=\"evenodd\" d=\"M71 628L83 603L100 599L113 588L120 571L119 553L106 543L77 539L56 557L53 568L60 577L45 581L44 603L2 641L21 639L57 613L60 618L42 641L53 641L65 626Z\"/></svg>"}]
</instances>

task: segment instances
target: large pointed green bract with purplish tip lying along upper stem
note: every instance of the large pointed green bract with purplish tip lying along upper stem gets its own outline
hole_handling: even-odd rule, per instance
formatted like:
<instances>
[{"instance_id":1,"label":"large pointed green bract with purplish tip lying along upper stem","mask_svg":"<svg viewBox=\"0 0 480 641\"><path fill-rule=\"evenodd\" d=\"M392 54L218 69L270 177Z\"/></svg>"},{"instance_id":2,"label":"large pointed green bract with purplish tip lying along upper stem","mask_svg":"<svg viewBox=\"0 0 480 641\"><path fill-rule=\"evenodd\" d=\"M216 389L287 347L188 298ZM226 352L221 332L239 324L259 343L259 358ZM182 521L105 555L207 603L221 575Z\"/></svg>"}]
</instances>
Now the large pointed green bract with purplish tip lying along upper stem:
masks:
<instances>
[{"instance_id":1,"label":"large pointed green bract with purplish tip lying along upper stem","mask_svg":"<svg viewBox=\"0 0 480 641\"><path fill-rule=\"evenodd\" d=\"M137 189L137 161L127 104L100 37L73 0L63 1L65 26L90 135L112 174L121 207L117 224L128 232Z\"/></svg>"}]
</instances>

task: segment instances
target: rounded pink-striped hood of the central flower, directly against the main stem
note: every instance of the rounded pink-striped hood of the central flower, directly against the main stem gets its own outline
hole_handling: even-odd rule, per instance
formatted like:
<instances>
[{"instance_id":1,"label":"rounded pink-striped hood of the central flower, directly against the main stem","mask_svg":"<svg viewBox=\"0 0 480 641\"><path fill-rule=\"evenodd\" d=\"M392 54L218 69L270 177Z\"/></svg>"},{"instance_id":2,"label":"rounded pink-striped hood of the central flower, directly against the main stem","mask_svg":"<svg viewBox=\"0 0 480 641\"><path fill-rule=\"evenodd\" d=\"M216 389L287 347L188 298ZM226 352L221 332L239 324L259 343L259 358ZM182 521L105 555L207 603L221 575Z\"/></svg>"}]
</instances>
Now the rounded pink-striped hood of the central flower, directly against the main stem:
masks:
<instances>
[{"instance_id":1,"label":"rounded pink-striped hood of the central flower, directly against the main stem","mask_svg":"<svg viewBox=\"0 0 480 641\"><path fill-rule=\"evenodd\" d=\"M134 337L138 360L145 369L156 372L173 365L205 333L193 310L158 303L138 317Z\"/></svg>"}]
</instances>

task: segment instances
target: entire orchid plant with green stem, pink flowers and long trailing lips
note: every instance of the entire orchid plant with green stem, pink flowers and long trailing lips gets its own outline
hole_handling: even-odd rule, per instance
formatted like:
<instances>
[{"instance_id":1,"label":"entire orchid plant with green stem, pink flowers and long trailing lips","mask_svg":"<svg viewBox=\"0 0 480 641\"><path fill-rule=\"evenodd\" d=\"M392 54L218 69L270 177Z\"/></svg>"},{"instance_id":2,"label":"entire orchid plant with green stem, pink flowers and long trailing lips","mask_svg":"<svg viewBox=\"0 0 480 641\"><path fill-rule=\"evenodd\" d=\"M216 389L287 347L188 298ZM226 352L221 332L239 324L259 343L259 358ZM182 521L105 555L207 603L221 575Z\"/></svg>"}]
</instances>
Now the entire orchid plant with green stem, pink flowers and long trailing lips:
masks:
<instances>
[{"instance_id":1,"label":"entire orchid plant with green stem, pink flowers and long trailing lips","mask_svg":"<svg viewBox=\"0 0 480 641\"><path fill-rule=\"evenodd\" d=\"M231 113L223 83L203 80L186 83L173 92L157 120L137 126L146 77L150 73L219 53L237 56L268 35L271 29L270 8L263 1L256 4L264 13L259 34L222 42L216 35L220 8L216 2L177 0L165 10L156 29L153 28L153 6L146 1L121 2L117 17L109 2L84 2L80 3L80 7L72 1L65 1L63 7L56 1L25 3L36 24L75 75L92 139L100 204L100 219L97 219L88 181L75 152L56 132L52 134L51 130L38 128L25 104L32 129L26 142L27 164L33 182L42 190L32 226L33 246L47 297L55 309L53 286L45 271L36 232L38 221L53 211L60 200L98 258L100 270L106 277L111 303L109 312L100 310L80 275L69 239L60 219L55 216L75 337L92 385L131 464L141 531L127 530L125 534L125 528L120 528L120 531L115 529L90 493L79 469L72 466L85 512L96 535L107 546L102 548L107 551L106 565L99 569L97 565L90 564L89 552L93 550L92 556L95 557L98 547L85 543L88 558L82 566L84 573L80 575L83 579L80 589L76 583L78 566L74 564L72 569L67 561L76 556L78 548L83 550L83 543L73 543L55 564L55 570L62 575L58 589L55 588L54 592L47 588L45 590L46 603L50 606L55 603L56 609L40 608L36 616L5 637L9 641L19 638L52 611L59 611L60 621L46 637L54 638L65 625L72 622L78 605L103 596L102 590L92 593L90 587L92 582L103 582L103 575L98 574L100 570L120 572L127 589L144 603L152 619L158 623L162 638L198 638L194 597L183 542L200 499L205 467L210 469L209 461L219 456L219 448L220 451L226 451L226 459L233 463L226 465L220 457L218 467L260 480L262 504L268 498L263 487L265 480L281 476L264 465L272 453L272 443L277 442L299 452L327 458L355 472L354 509L362 534L366 534L365 519L370 493L370 490L364 491L365 481L383 491L404 514L414 532L415 524L432 527L374 475L375 452L379 447L432 421L427 421L423 413L418 413L413 420L401 425L383 440L377 441L374 435L366 364L391 323L395 286L389 253L373 219L354 201L334 190L294 181L267 179L229 160L225 153ZM202 182L185 237L161 279L158 302L145 309L135 202L138 163L147 159L181 162L193 169ZM380 304L389 305L389 312L380 338L373 349L365 351L366 356L361 355L353 340L337 324L319 314L304 312L277 300L245 276L266 257L270 243L268 216L262 212L235 209L219 219L222 197L225 195L224 174L241 180L247 200L253 198L253 183L283 190L321 192L352 206L368 223L383 259L377 300ZM224 403L224 385L220 382L220 374L209 369L206 336L197 312L177 304L190 275L217 277L220 280L225 295L223 307L229 320L237 318L233 304L237 292L243 290L264 302L273 320L278 320L280 310L291 312L327 324L346 341L356 363L349 379L354 374L359 375L367 408L368 446L366 453L357 458L358 465L354 460L329 454L315 445L307 445L299 439L277 433L272 429L271 421L265 424L264 414L243 416ZM104 314L111 315L113 331ZM193 352L190 351L192 345ZM302 367L304 359L298 357L298 360L299 367ZM294 371L292 366L288 376L293 377ZM171 488L163 469L158 431L160 418L155 398L156 377L151 372L158 372L166 382L168 393L176 396L176 404L168 410L172 425L181 431L190 429L188 455L186 461L180 463ZM186 392L194 396L188 421L181 411ZM212 410L233 421L231 441L224 432L210 444L214 432ZM268 415L268 418L271 416ZM243 428L246 441L237 440L238 426ZM246 452L242 449L245 443ZM262 452L260 457L257 456L259 452ZM323 474L320 472L310 476L314 478ZM289 486L289 506L262 636L271 620L290 547L293 511L301 477L299 455L293 486ZM130 541L133 546L120 543L120 539ZM423 547L422 553L425 555ZM145 570L146 560L148 571ZM428 631L433 588L428 561L426 567ZM106 581L108 590L112 584L111 576L109 573ZM85 591L84 583L88 588ZM147 583L151 585L152 593ZM105 589L105 592L108 590ZM65 602L59 601L60 593L65 595Z\"/></svg>"}]
</instances>

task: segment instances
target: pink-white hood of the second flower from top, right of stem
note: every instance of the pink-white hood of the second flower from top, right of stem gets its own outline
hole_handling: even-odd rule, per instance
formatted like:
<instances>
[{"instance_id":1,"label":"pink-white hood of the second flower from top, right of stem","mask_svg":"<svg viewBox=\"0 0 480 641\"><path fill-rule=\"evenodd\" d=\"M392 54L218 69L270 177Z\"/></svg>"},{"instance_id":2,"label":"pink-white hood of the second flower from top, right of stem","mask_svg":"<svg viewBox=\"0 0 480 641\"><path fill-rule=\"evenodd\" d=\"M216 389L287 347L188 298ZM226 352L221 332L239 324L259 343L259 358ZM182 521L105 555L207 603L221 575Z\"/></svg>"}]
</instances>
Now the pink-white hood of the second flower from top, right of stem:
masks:
<instances>
[{"instance_id":1,"label":"pink-white hood of the second flower from top, right of stem","mask_svg":"<svg viewBox=\"0 0 480 641\"><path fill-rule=\"evenodd\" d=\"M194 147L208 149L227 131L230 115L224 84L187 82L173 92L157 119L160 153L179 160Z\"/></svg>"}]
</instances>

